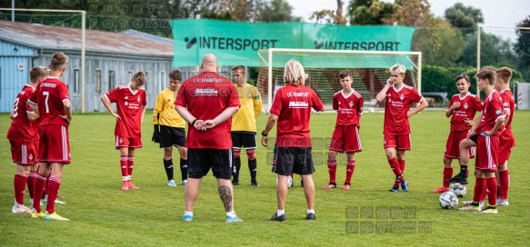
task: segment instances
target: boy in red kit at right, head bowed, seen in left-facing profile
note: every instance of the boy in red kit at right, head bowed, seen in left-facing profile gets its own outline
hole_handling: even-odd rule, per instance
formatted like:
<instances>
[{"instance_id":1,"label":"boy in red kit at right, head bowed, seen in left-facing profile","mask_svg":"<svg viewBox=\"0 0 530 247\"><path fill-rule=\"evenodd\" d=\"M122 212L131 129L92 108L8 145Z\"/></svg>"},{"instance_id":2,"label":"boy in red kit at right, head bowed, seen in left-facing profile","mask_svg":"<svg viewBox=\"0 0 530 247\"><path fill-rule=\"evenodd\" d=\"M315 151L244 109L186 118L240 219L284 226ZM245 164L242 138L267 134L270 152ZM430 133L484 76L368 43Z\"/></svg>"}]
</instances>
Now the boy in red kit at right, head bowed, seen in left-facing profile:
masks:
<instances>
[{"instance_id":1,"label":"boy in red kit at right, head bowed, seen in left-facing profile","mask_svg":"<svg viewBox=\"0 0 530 247\"><path fill-rule=\"evenodd\" d=\"M459 210L480 211L479 202L486 190L489 205L480 212L497 213L495 171L497 170L499 136L501 135L499 129L505 123L505 113L501 95L495 91L495 75L495 70L491 68L483 68L475 74L478 89L485 93L481 121L474 132L476 133L475 191L473 203L459 208ZM470 135L474 133L470 133Z\"/></svg>"}]
</instances>

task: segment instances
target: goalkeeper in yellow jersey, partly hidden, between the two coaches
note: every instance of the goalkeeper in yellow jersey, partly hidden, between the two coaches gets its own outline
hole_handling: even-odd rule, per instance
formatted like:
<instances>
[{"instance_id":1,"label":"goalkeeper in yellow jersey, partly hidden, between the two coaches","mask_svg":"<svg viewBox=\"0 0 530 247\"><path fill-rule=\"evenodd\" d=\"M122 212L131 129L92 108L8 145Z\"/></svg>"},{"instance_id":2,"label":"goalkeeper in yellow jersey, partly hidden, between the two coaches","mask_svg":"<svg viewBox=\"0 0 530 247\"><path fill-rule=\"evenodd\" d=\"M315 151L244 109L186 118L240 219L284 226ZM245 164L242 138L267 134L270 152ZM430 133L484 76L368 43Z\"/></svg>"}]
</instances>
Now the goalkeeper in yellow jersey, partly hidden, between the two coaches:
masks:
<instances>
[{"instance_id":1,"label":"goalkeeper in yellow jersey, partly hidden, between the two coaches","mask_svg":"<svg viewBox=\"0 0 530 247\"><path fill-rule=\"evenodd\" d=\"M245 67L236 65L232 67L232 79L239 94L241 108L232 116L232 143L233 143L233 170L232 184L239 185L239 171L241 169L241 147L246 151L248 157L248 170L250 170L251 185L258 187L255 179L257 173L257 161L255 159L255 120L261 114L261 96L257 88L245 82Z\"/></svg>"}]
</instances>

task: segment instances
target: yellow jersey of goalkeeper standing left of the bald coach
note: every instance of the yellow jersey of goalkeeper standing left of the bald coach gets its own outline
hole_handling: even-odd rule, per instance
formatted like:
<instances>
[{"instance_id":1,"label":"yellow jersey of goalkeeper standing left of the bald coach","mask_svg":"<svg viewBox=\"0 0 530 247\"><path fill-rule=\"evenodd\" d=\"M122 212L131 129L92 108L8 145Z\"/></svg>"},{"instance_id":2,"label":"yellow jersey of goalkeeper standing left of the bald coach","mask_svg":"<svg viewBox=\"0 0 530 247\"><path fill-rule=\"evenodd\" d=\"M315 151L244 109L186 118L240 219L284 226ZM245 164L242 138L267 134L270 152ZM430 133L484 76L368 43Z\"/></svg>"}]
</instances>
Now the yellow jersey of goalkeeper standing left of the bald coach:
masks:
<instances>
[{"instance_id":1,"label":"yellow jersey of goalkeeper standing left of the bald coach","mask_svg":"<svg viewBox=\"0 0 530 247\"><path fill-rule=\"evenodd\" d=\"M169 127L184 128L185 120L175 110L176 93L165 88L156 97L156 105L153 110L153 122L155 124ZM158 117L160 114L160 117Z\"/></svg>"}]
</instances>

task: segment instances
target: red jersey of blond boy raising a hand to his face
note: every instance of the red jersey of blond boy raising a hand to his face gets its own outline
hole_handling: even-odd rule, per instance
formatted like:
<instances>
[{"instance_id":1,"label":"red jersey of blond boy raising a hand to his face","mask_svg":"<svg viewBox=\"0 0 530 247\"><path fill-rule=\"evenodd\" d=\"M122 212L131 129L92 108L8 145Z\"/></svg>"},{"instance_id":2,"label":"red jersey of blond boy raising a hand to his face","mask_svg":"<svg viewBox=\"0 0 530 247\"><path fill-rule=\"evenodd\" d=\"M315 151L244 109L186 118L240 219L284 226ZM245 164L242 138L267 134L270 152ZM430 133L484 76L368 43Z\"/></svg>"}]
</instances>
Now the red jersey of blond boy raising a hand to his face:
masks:
<instances>
[{"instance_id":1,"label":"red jersey of blond boy raising a hand to his face","mask_svg":"<svg viewBox=\"0 0 530 247\"><path fill-rule=\"evenodd\" d=\"M396 90L394 85L386 92L385 124L383 133L385 135L401 135L410 133L410 125L406 113L413 103L419 103L424 97L414 87L403 85Z\"/></svg>"}]
</instances>

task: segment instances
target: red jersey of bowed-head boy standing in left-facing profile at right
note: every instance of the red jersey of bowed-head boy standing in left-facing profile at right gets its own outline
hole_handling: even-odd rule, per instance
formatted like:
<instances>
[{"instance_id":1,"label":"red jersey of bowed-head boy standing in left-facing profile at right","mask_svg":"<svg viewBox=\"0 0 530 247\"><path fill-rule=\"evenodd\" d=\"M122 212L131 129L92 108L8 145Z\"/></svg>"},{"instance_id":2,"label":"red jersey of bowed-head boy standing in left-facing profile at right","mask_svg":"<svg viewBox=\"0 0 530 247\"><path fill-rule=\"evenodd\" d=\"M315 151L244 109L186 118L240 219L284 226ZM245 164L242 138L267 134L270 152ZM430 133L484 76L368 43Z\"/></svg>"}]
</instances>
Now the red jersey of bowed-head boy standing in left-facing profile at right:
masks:
<instances>
[{"instance_id":1,"label":"red jersey of bowed-head boy standing in left-facing profile at right","mask_svg":"<svg viewBox=\"0 0 530 247\"><path fill-rule=\"evenodd\" d=\"M482 110L482 122L475 130L475 133L480 134L485 131L493 130L495 122L499 117L505 116L503 111L503 104L501 95L497 91L493 91L487 95L484 99L484 109ZM499 129L495 132L495 136L501 135L502 130Z\"/></svg>"}]
</instances>

